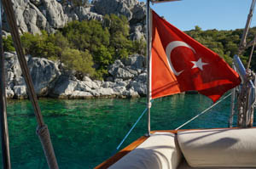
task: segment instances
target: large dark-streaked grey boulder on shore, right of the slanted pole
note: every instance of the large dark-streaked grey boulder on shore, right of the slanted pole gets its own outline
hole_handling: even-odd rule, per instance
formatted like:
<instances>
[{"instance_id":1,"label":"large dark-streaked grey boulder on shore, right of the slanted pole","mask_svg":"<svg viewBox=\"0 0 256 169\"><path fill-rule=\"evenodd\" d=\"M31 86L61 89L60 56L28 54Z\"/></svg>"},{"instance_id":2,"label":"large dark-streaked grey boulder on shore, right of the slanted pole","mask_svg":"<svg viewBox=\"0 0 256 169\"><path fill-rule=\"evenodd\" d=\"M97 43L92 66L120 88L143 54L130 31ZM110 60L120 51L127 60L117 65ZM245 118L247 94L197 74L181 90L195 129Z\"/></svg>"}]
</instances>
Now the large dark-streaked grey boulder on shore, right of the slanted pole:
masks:
<instances>
[{"instance_id":1,"label":"large dark-streaked grey boulder on shore, right of the slanted pole","mask_svg":"<svg viewBox=\"0 0 256 169\"><path fill-rule=\"evenodd\" d=\"M58 66L48 59L32 58L28 62L32 82L38 96L46 96L61 75Z\"/></svg>"}]
</instances>

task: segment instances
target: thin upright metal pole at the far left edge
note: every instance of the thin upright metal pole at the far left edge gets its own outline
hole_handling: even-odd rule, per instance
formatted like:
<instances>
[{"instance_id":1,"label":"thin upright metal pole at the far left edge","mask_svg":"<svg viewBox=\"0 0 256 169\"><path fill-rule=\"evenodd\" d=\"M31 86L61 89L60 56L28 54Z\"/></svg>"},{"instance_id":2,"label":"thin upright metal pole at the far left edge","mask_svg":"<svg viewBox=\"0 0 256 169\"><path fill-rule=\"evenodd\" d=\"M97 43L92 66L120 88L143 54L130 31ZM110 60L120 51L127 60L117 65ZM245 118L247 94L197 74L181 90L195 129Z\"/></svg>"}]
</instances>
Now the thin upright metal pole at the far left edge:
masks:
<instances>
[{"instance_id":1,"label":"thin upright metal pole at the far left edge","mask_svg":"<svg viewBox=\"0 0 256 169\"><path fill-rule=\"evenodd\" d=\"M6 112L6 94L5 94L5 72L3 58L3 39L2 39L2 0L0 0L0 122L1 122L1 141L3 168L10 169L9 156L9 132Z\"/></svg>"}]
</instances>

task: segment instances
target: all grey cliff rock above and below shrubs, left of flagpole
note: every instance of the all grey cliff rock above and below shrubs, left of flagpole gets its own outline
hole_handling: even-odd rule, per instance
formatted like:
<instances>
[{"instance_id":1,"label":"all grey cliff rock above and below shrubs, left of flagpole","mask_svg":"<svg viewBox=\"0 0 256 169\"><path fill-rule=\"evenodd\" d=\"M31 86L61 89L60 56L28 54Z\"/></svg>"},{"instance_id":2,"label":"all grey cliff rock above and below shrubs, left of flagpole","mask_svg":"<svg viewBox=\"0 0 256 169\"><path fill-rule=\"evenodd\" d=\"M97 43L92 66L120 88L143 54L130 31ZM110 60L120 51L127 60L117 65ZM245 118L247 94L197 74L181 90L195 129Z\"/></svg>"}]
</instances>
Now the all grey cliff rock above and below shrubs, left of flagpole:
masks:
<instances>
[{"instance_id":1,"label":"all grey cliff rock above and below shrubs, left of flagpole","mask_svg":"<svg viewBox=\"0 0 256 169\"><path fill-rule=\"evenodd\" d=\"M49 33L62 28L72 20L102 20L105 14L123 14L131 27L131 39L145 36L145 4L137 0L94 0L86 7L61 4L56 0L13 0L15 16L20 33ZM4 15L4 13L3 13ZM3 16L3 30L9 27ZM8 33L7 33L8 34ZM4 53L6 70L6 94L9 99L26 99L26 83L21 75L15 53ZM94 81L84 76L78 80L72 70L63 64L43 58L26 56L32 81L38 97L61 99L89 99L110 97L139 97L146 94L145 59L134 54L128 59L116 60L108 68L109 76L103 81Z\"/></svg>"}]
</instances>

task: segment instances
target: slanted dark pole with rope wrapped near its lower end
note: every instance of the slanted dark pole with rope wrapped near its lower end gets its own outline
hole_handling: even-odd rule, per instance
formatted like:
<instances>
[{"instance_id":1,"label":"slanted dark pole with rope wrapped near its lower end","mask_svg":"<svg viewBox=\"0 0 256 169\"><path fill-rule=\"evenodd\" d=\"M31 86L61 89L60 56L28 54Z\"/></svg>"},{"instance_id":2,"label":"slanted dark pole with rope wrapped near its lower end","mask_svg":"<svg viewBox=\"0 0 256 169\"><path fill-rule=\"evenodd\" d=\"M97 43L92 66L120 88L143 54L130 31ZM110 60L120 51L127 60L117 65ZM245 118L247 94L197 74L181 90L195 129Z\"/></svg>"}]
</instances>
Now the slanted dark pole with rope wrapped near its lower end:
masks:
<instances>
[{"instance_id":1,"label":"slanted dark pole with rope wrapped near its lower end","mask_svg":"<svg viewBox=\"0 0 256 169\"><path fill-rule=\"evenodd\" d=\"M32 102L34 114L36 115L36 119L38 121L37 134L44 149L44 155L46 157L49 168L58 169L59 167L55 158L55 152L49 137L49 130L48 127L44 124L43 115L41 114L41 110L38 104L37 94L35 93L35 89L33 87L32 77L30 76L30 72L25 59L25 54L23 53L23 49L21 47L20 34L15 19L13 4L10 0L3 0L3 7L4 12L7 16L10 32L15 44L15 49L18 55L22 75L24 76L26 81L28 95Z\"/></svg>"}]
</instances>

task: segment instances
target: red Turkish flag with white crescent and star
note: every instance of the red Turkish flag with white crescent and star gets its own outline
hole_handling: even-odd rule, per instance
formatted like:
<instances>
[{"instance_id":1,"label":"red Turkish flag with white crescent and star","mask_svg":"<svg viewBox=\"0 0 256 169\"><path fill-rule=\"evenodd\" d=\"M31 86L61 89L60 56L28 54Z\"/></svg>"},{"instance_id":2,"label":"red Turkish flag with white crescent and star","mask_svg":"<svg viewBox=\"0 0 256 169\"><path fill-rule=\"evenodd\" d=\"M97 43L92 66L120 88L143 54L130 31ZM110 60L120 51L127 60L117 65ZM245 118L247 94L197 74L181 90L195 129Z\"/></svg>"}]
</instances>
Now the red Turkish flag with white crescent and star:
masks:
<instances>
[{"instance_id":1,"label":"red Turkish flag with white crescent and star","mask_svg":"<svg viewBox=\"0 0 256 169\"><path fill-rule=\"evenodd\" d=\"M162 19L153 10L149 88L151 99L198 91L216 102L240 84L235 70L218 54Z\"/></svg>"}]
</instances>

